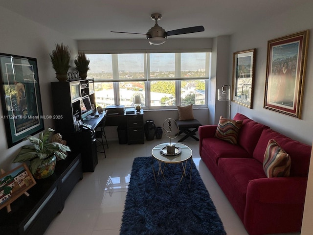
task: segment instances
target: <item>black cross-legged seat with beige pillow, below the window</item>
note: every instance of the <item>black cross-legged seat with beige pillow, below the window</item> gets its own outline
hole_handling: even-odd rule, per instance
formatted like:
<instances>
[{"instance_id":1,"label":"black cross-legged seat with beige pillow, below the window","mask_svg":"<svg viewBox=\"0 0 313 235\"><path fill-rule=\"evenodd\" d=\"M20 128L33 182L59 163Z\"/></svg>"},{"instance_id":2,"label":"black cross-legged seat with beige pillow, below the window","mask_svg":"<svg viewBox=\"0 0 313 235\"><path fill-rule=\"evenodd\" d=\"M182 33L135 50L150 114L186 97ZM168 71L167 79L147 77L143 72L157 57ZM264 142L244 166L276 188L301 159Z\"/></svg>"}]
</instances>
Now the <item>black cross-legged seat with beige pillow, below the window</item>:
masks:
<instances>
[{"instance_id":1,"label":"black cross-legged seat with beige pillow, below the window","mask_svg":"<svg viewBox=\"0 0 313 235\"><path fill-rule=\"evenodd\" d=\"M199 126L201 126L201 123L193 116L192 104L187 106L177 106L177 110L179 114L179 119L175 121L179 127L178 135L182 133L186 134L183 138L179 140L179 142L186 140L188 137L199 141L199 139L195 135L198 131Z\"/></svg>"}]
</instances>

